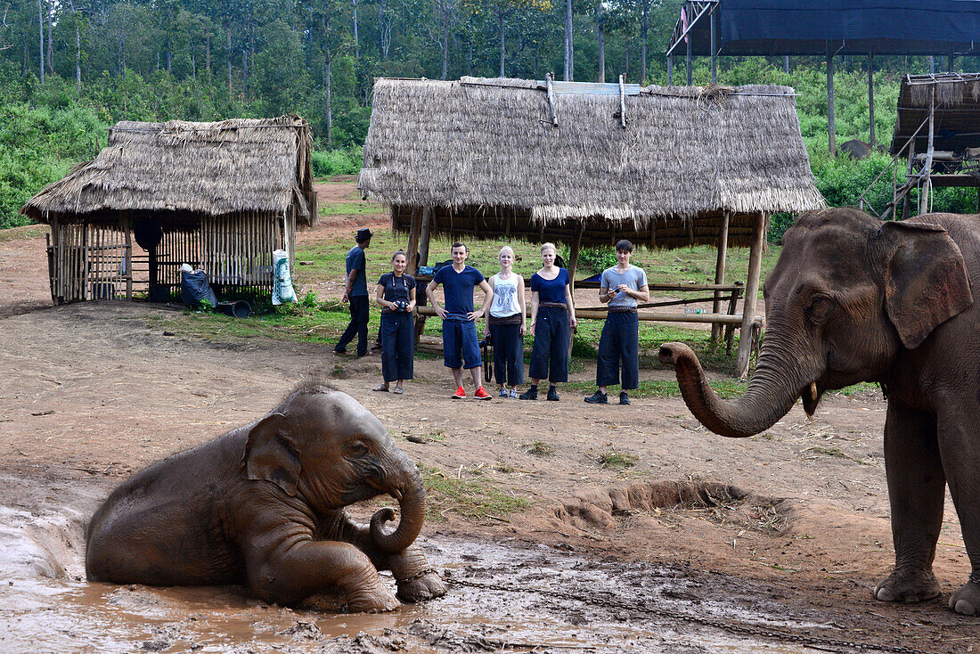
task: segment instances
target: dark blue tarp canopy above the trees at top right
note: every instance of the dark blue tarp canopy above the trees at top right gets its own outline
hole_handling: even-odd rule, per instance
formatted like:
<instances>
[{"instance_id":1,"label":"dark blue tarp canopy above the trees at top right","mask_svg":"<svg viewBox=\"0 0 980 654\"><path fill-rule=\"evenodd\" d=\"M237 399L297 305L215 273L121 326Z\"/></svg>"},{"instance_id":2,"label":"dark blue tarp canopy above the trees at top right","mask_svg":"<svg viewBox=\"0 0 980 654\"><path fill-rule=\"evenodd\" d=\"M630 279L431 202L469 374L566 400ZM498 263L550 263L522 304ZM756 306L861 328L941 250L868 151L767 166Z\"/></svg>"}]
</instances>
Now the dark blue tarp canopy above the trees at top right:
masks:
<instances>
[{"instance_id":1,"label":"dark blue tarp canopy above the trees at top right","mask_svg":"<svg viewBox=\"0 0 980 654\"><path fill-rule=\"evenodd\" d=\"M668 51L711 55L980 54L980 0L685 2ZM974 39L977 39L974 41Z\"/></svg>"}]
</instances>

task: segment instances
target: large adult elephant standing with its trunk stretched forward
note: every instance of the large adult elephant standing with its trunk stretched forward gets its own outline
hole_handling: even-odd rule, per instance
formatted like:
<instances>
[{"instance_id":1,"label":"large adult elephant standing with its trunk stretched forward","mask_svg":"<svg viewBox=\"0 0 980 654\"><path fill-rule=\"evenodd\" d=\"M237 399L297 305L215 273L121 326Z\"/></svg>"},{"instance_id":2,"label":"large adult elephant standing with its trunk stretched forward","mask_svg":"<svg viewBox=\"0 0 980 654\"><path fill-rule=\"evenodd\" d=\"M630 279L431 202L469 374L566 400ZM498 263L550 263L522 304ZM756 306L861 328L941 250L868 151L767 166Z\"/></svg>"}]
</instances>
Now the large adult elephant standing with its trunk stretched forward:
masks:
<instances>
[{"instance_id":1,"label":"large adult elephant standing with its trunk stretched forward","mask_svg":"<svg viewBox=\"0 0 980 654\"><path fill-rule=\"evenodd\" d=\"M765 280L765 339L738 400L719 400L694 353L662 345L688 408L715 433L770 428L803 397L879 381L888 399L885 469L895 570L882 601L936 597L932 573L949 483L971 574L950 608L980 611L980 217L881 223L857 209L801 217Z\"/></svg>"}]
</instances>

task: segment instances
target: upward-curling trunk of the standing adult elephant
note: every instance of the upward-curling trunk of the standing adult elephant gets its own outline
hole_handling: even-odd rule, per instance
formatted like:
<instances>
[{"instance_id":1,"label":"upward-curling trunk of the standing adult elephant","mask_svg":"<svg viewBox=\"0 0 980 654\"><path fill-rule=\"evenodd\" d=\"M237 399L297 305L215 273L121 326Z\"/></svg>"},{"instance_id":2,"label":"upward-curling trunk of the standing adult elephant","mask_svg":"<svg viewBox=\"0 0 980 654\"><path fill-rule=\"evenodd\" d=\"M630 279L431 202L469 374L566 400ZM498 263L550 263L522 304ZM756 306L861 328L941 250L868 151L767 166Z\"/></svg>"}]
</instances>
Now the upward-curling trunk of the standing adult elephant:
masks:
<instances>
[{"instance_id":1,"label":"upward-curling trunk of the standing adult elephant","mask_svg":"<svg viewBox=\"0 0 980 654\"><path fill-rule=\"evenodd\" d=\"M809 382L788 379L785 371L793 368L775 361L772 350L765 350L763 346L759 366L748 390L731 402L714 393L697 355L687 345L664 343L660 359L663 364L674 367L684 402L702 425L722 436L745 438L772 427L789 413L801 391L806 389L809 393L811 388Z\"/></svg>"}]
</instances>

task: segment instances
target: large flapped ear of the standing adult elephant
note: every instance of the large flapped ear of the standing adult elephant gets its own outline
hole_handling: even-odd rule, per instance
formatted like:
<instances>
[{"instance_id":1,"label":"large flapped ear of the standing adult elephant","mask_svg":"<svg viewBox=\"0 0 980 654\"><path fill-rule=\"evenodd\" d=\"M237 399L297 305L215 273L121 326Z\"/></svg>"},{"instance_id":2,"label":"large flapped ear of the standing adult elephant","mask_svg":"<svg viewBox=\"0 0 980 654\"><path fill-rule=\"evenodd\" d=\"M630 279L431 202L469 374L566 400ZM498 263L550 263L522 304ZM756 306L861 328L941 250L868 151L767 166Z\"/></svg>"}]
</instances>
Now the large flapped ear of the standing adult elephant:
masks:
<instances>
[{"instance_id":1,"label":"large flapped ear of the standing adult elephant","mask_svg":"<svg viewBox=\"0 0 980 654\"><path fill-rule=\"evenodd\" d=\"M941 226L888 222L895 247L885 275L885 311L908 349L973 304L963 255Z\"/></svg>"}]
</instances>

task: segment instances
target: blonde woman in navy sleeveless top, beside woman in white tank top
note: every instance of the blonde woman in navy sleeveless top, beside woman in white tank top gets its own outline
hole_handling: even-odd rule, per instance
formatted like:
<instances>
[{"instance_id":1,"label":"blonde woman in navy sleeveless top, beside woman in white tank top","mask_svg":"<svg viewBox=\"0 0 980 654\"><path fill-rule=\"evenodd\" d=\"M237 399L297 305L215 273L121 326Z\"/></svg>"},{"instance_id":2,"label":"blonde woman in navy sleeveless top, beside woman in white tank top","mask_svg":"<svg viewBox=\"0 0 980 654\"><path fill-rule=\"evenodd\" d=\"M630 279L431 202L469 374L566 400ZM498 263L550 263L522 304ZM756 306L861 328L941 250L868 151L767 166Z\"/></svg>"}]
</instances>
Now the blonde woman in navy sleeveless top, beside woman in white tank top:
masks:
<instances>
[{"instance_id":1,"label":"blonde woman in navy sleeveless top, beside woman in white tank top","mask_svg":"<svg viewBox=\"0 0 980 654\"><path fill-rule=\"evenodd\" d=\"M531 277L531 366L527 376L531 387L522 392L522 400L538 399L541 379L550 381L548 399L558 402L555 384L568 380L569 325L575 327L575 307L571 299L568 271L555 265L558 252L554 243L541 246L541 270Z\"/></svg>"}]
</instances>

